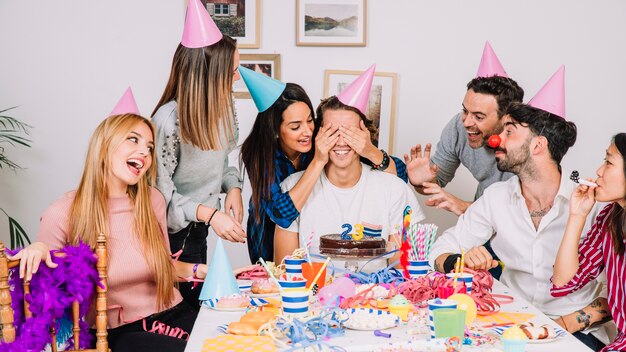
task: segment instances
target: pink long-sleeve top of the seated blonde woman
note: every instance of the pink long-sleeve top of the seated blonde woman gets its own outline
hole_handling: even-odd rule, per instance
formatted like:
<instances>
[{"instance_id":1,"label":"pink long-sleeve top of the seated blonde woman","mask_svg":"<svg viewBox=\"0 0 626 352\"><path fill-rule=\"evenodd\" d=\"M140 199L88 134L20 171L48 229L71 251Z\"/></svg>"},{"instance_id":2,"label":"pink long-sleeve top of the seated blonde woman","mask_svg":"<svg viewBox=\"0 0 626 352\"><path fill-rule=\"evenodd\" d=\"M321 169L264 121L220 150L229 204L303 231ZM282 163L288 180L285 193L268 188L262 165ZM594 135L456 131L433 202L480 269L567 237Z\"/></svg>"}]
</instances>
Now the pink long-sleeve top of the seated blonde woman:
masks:
<instances>
[{"instance_id":1,"label":"pink long-sleeve top of the seated blonde woman","mask_svg":"<svg viewBox=\"0 0 626 352\"><path fill-rule=\"evenodd\" d=\"M75 191L64 194L46 209L41 216L37 241L48 244L50 249L59 249L67 244L70 209L75 194ZM154 188L151 189L151 200L169 252L165 200ZM133 229L133 205L128 196L109 198L109 232L107 317L109 328L115 328L160 310L156 303L156 282ZM182 301L178 290L175 287L172 289L174 300L170 307Z\"/></svg>"}]
</instances>

